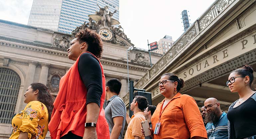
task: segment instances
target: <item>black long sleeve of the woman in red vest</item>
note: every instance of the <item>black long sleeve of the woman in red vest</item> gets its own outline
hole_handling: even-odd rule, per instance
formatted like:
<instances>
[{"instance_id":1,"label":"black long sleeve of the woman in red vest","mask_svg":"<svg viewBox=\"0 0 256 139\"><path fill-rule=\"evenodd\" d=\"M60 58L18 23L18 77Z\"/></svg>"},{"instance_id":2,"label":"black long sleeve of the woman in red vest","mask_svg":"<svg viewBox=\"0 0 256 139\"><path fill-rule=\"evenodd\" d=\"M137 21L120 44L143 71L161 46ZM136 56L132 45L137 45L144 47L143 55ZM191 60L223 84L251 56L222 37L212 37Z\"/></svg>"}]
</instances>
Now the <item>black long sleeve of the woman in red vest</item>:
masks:
<instances>
[{"instance_id":1,"label":"black long sleeve of the woman in red vest","mask_svg":"<svg viewBox=\"0 0 256 139\"><path fill-rule=\"evenodd\" d=\"M90 53L83 53L78 61L78 72L87 88L86 105L93 102L100 107L103 89L99 61Z\"/></svg>"}]
</instances>

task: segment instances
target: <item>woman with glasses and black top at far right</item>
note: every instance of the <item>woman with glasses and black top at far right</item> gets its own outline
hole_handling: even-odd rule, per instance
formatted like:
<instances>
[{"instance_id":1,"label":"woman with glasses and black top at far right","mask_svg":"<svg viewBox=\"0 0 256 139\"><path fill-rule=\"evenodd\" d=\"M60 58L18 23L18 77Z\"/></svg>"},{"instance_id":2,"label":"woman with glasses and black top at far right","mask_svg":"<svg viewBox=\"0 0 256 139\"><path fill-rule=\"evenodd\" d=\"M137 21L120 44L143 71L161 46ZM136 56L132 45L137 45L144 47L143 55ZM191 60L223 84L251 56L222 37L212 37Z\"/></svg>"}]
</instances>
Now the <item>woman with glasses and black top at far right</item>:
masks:
<instances>
[{"instance_id":1,"label":"woman with glasses and black top at far right","mask_svg":"<svg viewBox=\"0 0 256 139\"><path fill-rule=\"evenodd\" d=\"M227 113L229 139L256 138L256 94L251 89L252 81L252 67L245 65L233 70L226 82L230 91L239 95Z\"/></svg>"}]
</instances>

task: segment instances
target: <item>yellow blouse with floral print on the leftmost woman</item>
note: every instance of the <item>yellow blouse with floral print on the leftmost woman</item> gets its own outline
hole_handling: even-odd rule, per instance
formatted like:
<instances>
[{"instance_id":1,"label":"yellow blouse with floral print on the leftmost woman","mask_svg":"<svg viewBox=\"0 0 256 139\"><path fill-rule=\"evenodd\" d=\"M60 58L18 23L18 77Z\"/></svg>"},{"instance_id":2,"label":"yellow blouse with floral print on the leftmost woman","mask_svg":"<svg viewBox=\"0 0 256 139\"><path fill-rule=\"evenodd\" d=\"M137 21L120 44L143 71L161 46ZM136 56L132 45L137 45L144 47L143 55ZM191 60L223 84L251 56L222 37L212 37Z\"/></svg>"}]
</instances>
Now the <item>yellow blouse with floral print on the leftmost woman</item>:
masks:
<instances>
[{"instance_id":1,"label":"yellow blouse with floral print on the leftmost woman","mask_svg":"<svg viewBox=\"0 0 256 139\"><path fill-rule=\"evenodd\" d=\"M29 139L44 139L48 131L48 110L39 101L31 101L12 119L13 131L9 139L18 139L27 132Z\"/></svg>"}]
</instances>

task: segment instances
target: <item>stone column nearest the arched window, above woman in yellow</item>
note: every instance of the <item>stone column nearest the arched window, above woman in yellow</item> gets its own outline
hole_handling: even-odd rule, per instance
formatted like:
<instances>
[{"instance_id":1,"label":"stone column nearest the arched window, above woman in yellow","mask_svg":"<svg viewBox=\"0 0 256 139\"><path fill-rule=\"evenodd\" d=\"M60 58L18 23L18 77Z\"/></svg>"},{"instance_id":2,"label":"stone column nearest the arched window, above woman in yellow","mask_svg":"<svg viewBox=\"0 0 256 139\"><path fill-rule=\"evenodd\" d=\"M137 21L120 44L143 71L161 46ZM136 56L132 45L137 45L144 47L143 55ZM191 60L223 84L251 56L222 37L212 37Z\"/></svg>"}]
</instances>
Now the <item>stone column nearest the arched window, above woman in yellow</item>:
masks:
<instances>
[{"instance_id":1,"label":"stone column nearest the arched window, above woman in yellow","mask_svg":"<svg viewBox=\"0 0 256 139\"><path fill-rule=\"evenodd\" d=\"M35 61L29 62L28 73L26 75L26 80L25 80L25 84L24 84L24 94L25 94L27 88L29 87L29 85L31 83L33 83L33 81L34 81L37 65L38 65L38 62L35 62ZM22 104L20 105L20 109L19 109L20 111L23 110L25 108L25 106L27 105L24 103L24 97L22 97L21 102L22 102Z\"/></svg>"}]
</instances>

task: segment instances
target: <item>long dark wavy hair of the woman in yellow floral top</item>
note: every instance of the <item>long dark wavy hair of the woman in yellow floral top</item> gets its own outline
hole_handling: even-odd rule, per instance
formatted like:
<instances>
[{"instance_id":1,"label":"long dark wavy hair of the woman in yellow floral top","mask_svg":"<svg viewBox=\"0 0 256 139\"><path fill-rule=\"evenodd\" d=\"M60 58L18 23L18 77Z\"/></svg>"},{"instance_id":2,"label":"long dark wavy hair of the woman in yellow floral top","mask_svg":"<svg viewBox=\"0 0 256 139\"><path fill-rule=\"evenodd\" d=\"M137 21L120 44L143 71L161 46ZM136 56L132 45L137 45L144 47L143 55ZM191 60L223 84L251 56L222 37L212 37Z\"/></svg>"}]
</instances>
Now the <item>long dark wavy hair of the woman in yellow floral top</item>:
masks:
<instances>
[{"instance_id":1,"label":"long dark wavy hair of the woman in yellow floral top","mask_svg":"<svg viewBox=\"0 0 256 139\"><path fill-rule=\"evenodd\" d=\"M48 119L50 122L54 107L54 97L50 94L48 88L42 83L32 83L31 88L33 89L33 91L38 90L37 99L47 107Z\"/></svg>"}]
</instances>

